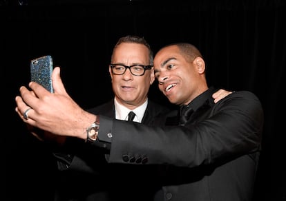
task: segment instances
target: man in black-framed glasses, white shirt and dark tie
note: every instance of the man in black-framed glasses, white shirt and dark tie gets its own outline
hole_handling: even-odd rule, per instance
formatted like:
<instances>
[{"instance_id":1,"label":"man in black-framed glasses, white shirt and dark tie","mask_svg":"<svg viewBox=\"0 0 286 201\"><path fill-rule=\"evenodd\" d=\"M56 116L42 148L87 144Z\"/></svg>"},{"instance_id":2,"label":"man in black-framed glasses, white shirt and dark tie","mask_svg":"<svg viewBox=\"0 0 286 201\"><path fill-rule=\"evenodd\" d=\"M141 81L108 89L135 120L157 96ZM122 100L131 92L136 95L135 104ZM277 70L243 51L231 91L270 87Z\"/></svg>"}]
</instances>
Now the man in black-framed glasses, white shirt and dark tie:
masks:
<instances>
[{"instance_id":1,"label":"man in black-framed glasses, white shirt and dark tie","mask_svg":"<svg viewBox=\"0 0 286 201\"><path fill-rule=\"evenodd\" d=\"M135 122L164 125L169 109L148 98L155 75L153 52L143 38L124 36L117 41L109 73L114 98L88 112L118 120L128 120L128 114L133 112ZM220 92L217 100L229 94ZM90 127L88 140L93 140L96 127L96 123ZM160 171L154 171L152 166L108 164L109 154L104 145L101 149L77 138L66 138L63 147L55 153L61 170L55 200L153 200L154 192L160 188L157 180ZM145 159L136 157L129 161L137 164Z\"/></svg>"}]
</instances>

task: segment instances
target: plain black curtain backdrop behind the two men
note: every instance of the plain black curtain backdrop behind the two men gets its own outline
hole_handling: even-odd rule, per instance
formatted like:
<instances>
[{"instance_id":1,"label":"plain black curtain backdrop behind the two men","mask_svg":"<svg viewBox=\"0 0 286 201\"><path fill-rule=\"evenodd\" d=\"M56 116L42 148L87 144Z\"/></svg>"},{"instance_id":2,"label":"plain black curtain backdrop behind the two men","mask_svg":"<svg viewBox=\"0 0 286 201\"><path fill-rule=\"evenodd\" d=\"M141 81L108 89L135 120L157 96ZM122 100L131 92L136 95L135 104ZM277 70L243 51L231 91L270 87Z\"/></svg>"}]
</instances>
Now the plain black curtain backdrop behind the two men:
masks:
<instances>
[{"instance_id":1,"label":"plain black curtain backdrop behind the two men","mask_svg":"<svg viewBox=\"0 0 286 201\"><path fill-rule=\"evenodd\" d=\"M265 128L254 200L286 200L285 1L0 3L5 169L0 200L50 200L57 182L47 147L15 112L19 87L30 80L30 59L52 55L70 96L93 107L113 97L108 63L113 45L126 34L144 36L154 52L167 43L193 43L207 62L209 85L249 90L260 98ZM169 105L157 85L150 97Z\"/></svg>"}]
</instances>

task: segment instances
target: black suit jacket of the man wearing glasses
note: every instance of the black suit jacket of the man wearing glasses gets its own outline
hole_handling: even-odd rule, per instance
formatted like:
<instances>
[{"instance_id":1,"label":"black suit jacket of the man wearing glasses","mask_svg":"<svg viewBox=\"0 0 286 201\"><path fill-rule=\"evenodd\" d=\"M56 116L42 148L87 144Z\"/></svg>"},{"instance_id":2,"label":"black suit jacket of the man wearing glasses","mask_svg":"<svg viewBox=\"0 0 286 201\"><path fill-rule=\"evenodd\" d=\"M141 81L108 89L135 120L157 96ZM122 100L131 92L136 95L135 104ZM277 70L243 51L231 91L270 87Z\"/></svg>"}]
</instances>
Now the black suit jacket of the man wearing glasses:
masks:
<instances>
[{"instance_id":1,"label":"black suit jacket of the man wearing glasses","mask_svg":"<svg viewBox=\"0 0 286 201\"><path fill-rule=\"evenodd\" d=\"M88 111L115 118L113 100ZM167 112L169 109L149 100L142 124L164 125ZM61 170L55 200L153 200L159 188L153 167L108 164L106 147L69 138L65 149L55 153ZM134 164L140 160L133 159Z\"/></svg>"}]
</instances>

